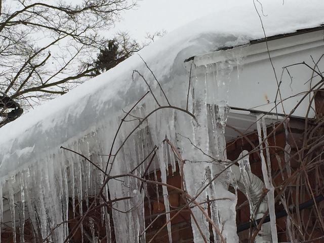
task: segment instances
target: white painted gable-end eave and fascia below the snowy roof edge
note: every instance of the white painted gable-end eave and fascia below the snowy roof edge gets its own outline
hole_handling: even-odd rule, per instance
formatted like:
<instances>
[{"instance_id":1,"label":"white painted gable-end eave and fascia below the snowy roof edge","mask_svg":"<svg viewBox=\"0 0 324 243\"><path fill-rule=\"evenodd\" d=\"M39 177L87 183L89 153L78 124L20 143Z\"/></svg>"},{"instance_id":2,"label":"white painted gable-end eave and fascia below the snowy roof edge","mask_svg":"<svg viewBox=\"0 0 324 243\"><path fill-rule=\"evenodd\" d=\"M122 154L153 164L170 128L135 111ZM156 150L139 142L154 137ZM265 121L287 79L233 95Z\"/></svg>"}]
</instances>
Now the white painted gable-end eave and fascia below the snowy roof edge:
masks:
<instances>
[{"instance_id":1,"label":"white painted gable-end eave and fascia below the snowy roof edge","mask_svg":"<svg viewBox=\"0 0 324 243\"><path fill-rule=\"evenodd\" d=\"M314 66L314 62L318 62L319 69L323 66L323 29L324 26L318 26L256 39L249 44L198 55L186 62L193 60L195 66L224 61L236 63L231 73L229 106L238 110L284 115L290 113L305 92L319 81L318 75L314 75L310 82L311 68L293 64L306 62ZM286 66L290 67L284 68ZM278 84L283 107L277 94ZM313 118L315 112L312 109L307 114L308 105L309 98L306 98L292 115ZM313 102L311 106L314 108Z\"/></svg>"}]
</instances>

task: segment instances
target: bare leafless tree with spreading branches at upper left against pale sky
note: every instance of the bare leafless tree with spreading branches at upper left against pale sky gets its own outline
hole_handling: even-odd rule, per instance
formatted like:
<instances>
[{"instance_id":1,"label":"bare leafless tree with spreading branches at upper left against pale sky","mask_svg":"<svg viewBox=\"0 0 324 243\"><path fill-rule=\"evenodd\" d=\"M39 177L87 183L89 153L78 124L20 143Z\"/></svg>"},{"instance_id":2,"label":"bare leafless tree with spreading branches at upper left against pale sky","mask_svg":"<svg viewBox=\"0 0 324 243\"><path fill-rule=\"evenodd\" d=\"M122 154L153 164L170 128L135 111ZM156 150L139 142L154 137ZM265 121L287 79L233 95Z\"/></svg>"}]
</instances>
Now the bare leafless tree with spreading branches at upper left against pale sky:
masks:
<instances>
[{"instance_id":1,"label":"bare leafless tree with spreading branches at upper left against pale sky","mask_svg":"<svg viewBox=\"0 0 324 243\"><path fill-rule=\"evenodd\" d=\"M134 4L0 0L0 90L25 107L65 94L93 76L85 63L107 45L102 33Z\"/></svg>"}]
</instances>

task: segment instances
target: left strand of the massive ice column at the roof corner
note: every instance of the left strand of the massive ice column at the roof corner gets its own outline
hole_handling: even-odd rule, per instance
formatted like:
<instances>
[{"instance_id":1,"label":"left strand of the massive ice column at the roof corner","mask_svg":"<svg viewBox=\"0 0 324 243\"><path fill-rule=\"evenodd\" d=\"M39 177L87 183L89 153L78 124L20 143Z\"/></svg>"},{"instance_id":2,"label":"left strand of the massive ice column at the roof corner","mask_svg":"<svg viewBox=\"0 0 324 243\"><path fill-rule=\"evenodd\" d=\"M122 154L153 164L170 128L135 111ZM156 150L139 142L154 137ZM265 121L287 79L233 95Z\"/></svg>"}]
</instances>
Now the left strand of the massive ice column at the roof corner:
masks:
<instances>
[{"instance_id":1,"label":"left strand of the massive ice column at the roof corner","mask_svg":"<svg viewBox=\"0 0 324 243\"><path fill-rule=\"evenodd\" d=\"M186 122L183 116L179 116L179 124L181 126L181 133L187 136L191 135L191 142L195 144L198 148L203 150L206 153L209 153L209 140L208 140L208 126L207 126L207 78L206 78L206 67L198 66L192 70L193 78L191 78L193 89L194 89L194 115L197 119L196 123ZM198 149L194 148L190 141L186 138L181 138L181 148L183 159L187 159L186 163L183 166L184 172L184 182L186 190L189 195L196 196L197 193L200 193L196 198L196 202L201 204L207 199L207 191L200 191L201 188L205 185L205 168L208 166L206 161L208 158L206 155L201 153ZM201 204L201 207L207 208L207 204ZM203 212L200 211L198 207L191 209L191 228L193 233L193 241L195 243L202 242L203 236L209 239L210 232L208 222ZM196 219L198 227L193 220L193 217Z\"/></svg>"}]
</instances>

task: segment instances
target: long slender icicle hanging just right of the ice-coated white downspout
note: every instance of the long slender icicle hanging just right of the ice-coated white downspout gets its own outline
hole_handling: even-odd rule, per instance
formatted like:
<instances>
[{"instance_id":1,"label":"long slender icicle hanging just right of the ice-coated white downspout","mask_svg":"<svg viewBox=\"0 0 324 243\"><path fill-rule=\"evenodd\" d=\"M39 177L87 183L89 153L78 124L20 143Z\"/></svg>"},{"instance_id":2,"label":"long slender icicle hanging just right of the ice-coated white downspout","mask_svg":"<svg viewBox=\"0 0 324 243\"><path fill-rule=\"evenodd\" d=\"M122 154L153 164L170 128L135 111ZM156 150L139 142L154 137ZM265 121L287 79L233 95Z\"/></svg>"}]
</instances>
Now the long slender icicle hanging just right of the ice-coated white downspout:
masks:
<instances>
[{"instance_id":1,"label":"long slender icicle hanging just right of the ice-coated white downspout","mask_svg":"<svg viewBox=\"0 0 324 243\"><path fill-rule=\"evenodd\" d=\"M266 160L263 155L263 145L262 145L262 133L261 133L261 125L260 119L262 115L257 116L257 130L258 130L258 137L259 137L259 144L260 144L260 157L261 157L261 168L262 168L262 175L264 179L264 184L266 188L269 190L267 193L268 197L268 207L269 207L269 215L270 215L270 227L271 227L271 237L272 243L278 242L278 235L277 235L277 228L276 228L276 217L275 217L275 209L274 209L274 188L272 186L271 178L269 178L268 173L270 174L271 171L267 171ZM264 134L266 137L266 134Z\"/></svg>"}]
</instances>

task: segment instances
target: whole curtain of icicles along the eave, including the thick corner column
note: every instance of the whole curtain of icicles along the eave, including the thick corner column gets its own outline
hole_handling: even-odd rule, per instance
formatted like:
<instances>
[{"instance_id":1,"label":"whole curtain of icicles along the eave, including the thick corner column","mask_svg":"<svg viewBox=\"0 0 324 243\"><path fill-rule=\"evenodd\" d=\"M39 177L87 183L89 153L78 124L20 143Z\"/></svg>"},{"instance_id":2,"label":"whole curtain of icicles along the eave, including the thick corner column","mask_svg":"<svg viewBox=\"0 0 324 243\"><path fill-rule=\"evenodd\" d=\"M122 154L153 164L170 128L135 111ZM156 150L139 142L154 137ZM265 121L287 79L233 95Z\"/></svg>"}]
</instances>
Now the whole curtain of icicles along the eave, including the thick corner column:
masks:
<instances>
[{"instance_id":1,"label":"whole curtain of icicles along the eave, including the thick corner column","mask_svg":"<svg viewBox=\"0 0 324 243\"><path fill-rule=\"evenodd\" d=\"M154 146L157 146L156 156L149 171L153 168L159 169L161 182L166 183L167 174L174 172L176 168L173 150L166 143L167 138L170 144L180 148L181 156L186 161L182 165L184 166L183 183L186 191L196 203L201 204L202 208L207 207L207 199L210 200L215 240L225 239L227 242L238 242L235 222L236 195L228 191L231 170L225 170L219 177L214 178L227 166L224 128L229 111L227 96L231 71L232 63L229 61L193 67L188 112L192 112L196 120L186 112L164 108L152 113L145 122L142 122L143 117L159 107L156 100L161 106L166 106L168 105L167 96L174 105L185 107L187 104L188 76L182 84L177 84L177 89L169 89L166 96L156 85L155 79L151 78L150 85L154 88L153 94L147 95L127 117L128 121L125 121L119 131L112 150L112 154L118 153L110 159L108 171L111 171L111 175L127 174L133 171L134 176L141 177L148 166L149 159L140 166L138 165L145 157L151 158L150 152ZM145 75L152 77L151 73L146 72ZM182 90L182 97L179 99L181 95L173 90ZM130 107L131 105L123 109L127 110ZM112 131L117 131L120 121L117 117L124 115L125 113L119 112L116 118L109 119L108 123L103 120L95 127L88 129L86 133L67 140L61 145L83 154L90 158L97 167L105 170L108 158L105 155L109 153L108 148L112 145L114 135ZM139 121L141 121L140 125ZM138 128L132 133L137 126ZM131 133L132 135L129 136ZM169 165L171 165L172 172L168 172ZM15 218L19 218L16 224L20 227L18 232L24 230L23 220L30 218L36 229L34 231L36 237L63 242L69 233L66 223L69 197L72 198L72 212L70 213L83 215L83 207L91 204L88 196L98 193L102 182L103 173L83 157L68 150L56 148L49 150L45 156L35 155L33 163L27 164L10 179L3 181L2 189L7 192L9 188L12 222L15 222ZM115 201L113 208L116 210L112 211L112 218L103 209L102 221L106 222L108 240L110 239L109 222L113 220L116 242L145 241L143 200L147 190L145 190L146 185L144 190L141 189L141 184L141 181L136 178L123 177L110 180L104 187L105 198L132 198ZM207 186L206 190L205 186ZM163 198L168 212L170 210L168 189L165 186L158 187L163 191L163 196L160 198ZM225 199L217 200L219 198ZM77 202L82 200L86 204L79 204L76 207ZM188 201L190 200L188 198ZM20 205L20 207L15 207L15 205ZM190 204L192 205L193 203ZM25 209L22 210L23 208ZM204 212L201 212L198 207L194 207L192 211L204 237L209 239L209 222L204 217ZM170 214L166 216L169 221ZM89 225L93 225L92 219L88 221ZM83 225L80 228L83 230ZM172 242L170 223L167 229L169 241ZM192 229L194 242L201 242L203 236L194 220L192 220ZM221 236L219 235L220 229L222 230ZM17 231L14 229L14 232ZM90 237L97 239L93 228Z\"/></svg>"}]
</instances>

